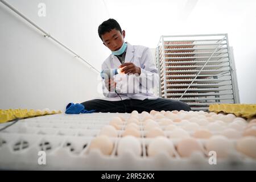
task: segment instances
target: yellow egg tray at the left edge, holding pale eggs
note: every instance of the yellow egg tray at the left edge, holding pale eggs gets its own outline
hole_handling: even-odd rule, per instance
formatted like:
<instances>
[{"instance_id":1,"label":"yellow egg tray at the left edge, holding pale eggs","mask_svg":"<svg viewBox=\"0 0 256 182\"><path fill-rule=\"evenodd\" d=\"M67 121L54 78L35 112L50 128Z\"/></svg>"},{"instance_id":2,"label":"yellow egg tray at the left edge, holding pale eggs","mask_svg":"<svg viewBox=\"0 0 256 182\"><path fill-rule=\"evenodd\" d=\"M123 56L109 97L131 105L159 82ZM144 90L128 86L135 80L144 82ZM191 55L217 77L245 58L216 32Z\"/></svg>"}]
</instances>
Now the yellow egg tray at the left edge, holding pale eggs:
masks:
<instances>
[{"instance_id":1,"label":"yellow egg tray at the left edge, holding pale eggs","mask_svg":"<svg viewBox=\"0 0 256 182\"><path fill-rule=\"evenodd\" d=\"M34 110L34 109L0 109L0 123L5 123L8 121L12 121L16 118L30 118L47 114L58 114L61 113L60 110Z\"/></svg>"}]
</instances>

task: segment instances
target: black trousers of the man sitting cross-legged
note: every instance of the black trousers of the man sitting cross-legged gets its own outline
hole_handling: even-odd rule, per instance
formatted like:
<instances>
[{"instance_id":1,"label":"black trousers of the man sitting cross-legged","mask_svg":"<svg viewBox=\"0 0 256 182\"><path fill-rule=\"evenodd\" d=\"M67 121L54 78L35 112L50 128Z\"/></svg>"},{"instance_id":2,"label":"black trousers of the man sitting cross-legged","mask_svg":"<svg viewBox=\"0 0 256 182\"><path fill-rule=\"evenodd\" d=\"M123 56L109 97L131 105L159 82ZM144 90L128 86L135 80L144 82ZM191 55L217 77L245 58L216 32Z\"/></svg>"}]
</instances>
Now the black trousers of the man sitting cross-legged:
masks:
<instances>
[{"instance_id":1,"label":"black trousers of the man sitting cross-legged","mask_svg":"<svg viewBox=\"0 0 256 182\"><path fill-rule=\"evenodd\" d=\"M123 101L105 101L105 100L90 100L81 103L85 106L86 110L95 109L97 113L131 113L133 110L137 110L139 113L142 111L151 110L191 110L189 105L181 101L170 100L166 98L157 98L156 100L123 100ZM125 105L125 106L124 106Z\"/></svg>"}]
</instances>

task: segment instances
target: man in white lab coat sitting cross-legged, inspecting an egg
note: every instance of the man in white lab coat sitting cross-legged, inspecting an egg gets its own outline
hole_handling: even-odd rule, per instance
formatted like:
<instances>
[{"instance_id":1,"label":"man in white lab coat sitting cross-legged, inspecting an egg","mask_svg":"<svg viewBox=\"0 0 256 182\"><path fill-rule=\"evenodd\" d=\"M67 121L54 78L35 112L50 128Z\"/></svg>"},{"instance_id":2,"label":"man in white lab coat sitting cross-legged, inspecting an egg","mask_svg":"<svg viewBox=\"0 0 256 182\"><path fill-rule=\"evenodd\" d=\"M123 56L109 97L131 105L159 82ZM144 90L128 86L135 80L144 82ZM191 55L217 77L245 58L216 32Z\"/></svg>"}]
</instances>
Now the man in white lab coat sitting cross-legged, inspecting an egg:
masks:
<instances>
[{"instance_id":1,"label":"man in white lab coat sitting cross-legged, inspecting an egg","mask_svg":"<svg viewBox=\"0 0 256 182\"><path fill-rule=\"evenodd\" d=\"M119 69L121 73L105 78L102 89L105 98L82 102L87 110L110 113L131 113L137 110L191 110L181 101L159 98L152 94L159 82L158 69L150 49L125 42L125 30L114 19L98 27L98 35L112 54L102 64L102 70Z\"/></svg>"}]
</instances>

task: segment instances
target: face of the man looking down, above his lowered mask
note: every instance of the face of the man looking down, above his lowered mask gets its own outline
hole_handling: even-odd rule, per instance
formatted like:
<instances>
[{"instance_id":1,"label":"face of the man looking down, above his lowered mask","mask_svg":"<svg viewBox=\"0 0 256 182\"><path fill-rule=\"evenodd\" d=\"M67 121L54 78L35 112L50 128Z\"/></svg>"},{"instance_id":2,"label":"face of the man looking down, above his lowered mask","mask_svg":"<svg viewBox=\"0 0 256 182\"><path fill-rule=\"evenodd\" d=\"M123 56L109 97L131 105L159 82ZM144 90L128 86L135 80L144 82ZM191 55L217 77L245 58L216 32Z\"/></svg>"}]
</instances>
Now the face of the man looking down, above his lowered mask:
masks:
<instances>
[{"instance_id":1,"label":"face of the man looking down, above his lowered mask","mask_svg":"<svg viewBox=\"0 0 256 182\"><path fill-rule=\"evenodd\" d=\"M125 31L119 32L116 29L112 29L110 32L106 32L101 35L103 44L110 49L110 51L117 51L123 45L123 38L125 38Z\"/></svg>"}]
</instances>

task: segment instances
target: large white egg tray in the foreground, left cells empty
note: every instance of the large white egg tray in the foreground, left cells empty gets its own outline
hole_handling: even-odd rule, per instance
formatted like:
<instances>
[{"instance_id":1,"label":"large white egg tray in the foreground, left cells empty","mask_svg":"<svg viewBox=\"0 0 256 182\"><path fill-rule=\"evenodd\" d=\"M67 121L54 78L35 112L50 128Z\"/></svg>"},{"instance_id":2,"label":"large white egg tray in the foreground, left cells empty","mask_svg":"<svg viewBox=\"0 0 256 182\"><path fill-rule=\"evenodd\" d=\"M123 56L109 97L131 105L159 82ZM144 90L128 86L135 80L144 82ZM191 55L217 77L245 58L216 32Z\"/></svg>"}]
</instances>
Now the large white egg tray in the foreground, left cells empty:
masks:
<instances>
[{"instance_id":1,"label":"large white egg tray in the foreground, left cells empty","mask_svg":"<svg viewBox=\"0 0 256 182\"><path fill-rule=\"evenodd\" d=\"M0 133L0 169L29 170L172 170L172 169L256 169L256 160L234 151L229 158L218 159L217 165L208 163L207 153L193 153L190 158L181 158L177 151L174 156L166 153L150 157L148 143L153 138L145 138L146 131L141 125L141 156L127 151L117 155L118 142L125 125L118 130L111 155L103 155L98 150L89 151L93 138L99 135L102 127L118 115L127 119L130 114L93 113L66 115L55 114L23 119ZM5 126L3 123L0 126ZM190 135L193 132L189 133ZM218 133L215 133L218 134ZM164 131L168 138L170 131ZM171 139L176 146L180 139ZM197 139L205 146L206 139ZM232 140L235 144L236 140ZM39 151L46 152L46 165L39 165Z\"/></svg>"}]
</instances>

